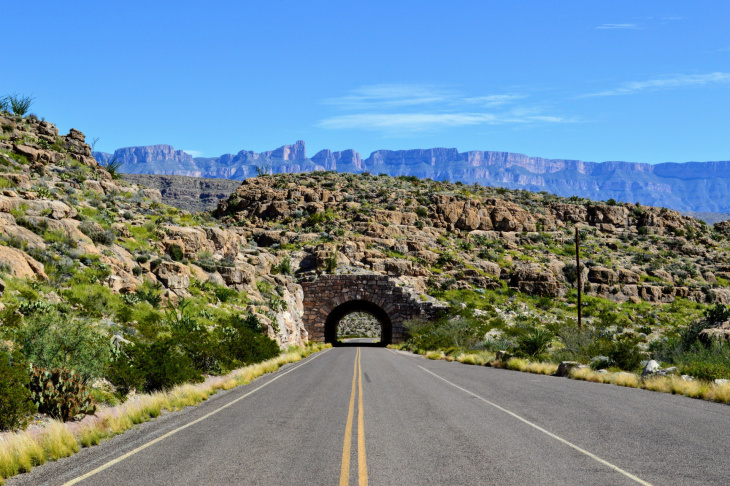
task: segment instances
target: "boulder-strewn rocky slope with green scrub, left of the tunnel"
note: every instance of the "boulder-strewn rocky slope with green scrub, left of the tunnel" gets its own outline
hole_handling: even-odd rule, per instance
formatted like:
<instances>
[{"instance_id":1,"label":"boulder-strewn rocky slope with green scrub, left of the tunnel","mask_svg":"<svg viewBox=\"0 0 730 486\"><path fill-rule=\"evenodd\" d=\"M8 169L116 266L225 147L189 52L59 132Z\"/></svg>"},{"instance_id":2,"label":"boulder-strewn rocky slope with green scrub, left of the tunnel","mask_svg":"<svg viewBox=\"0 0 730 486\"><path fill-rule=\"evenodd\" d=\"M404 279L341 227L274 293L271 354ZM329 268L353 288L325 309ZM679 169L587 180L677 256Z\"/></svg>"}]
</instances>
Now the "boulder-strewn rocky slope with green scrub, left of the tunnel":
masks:
<instances>
[{"instance_id":1,"label":"boulder-strewn rocky slope with green scrub, left of the tunnel","mask_svg":"<svg viewBox=\"0 0 730 486\"><path fill-rule=\"evenodd\" d=\"M0 128L0 311L50 303L135 334L140 316L159 319L155 306L186 299L211 328L255 315L282 347L307 341L301 287L276 274L280 257L242 228L121 179L91 157L79 130L59 135L52 123L7 113ZM139 314L146 302L153 307Z\"/></svg>"}]
</instances>

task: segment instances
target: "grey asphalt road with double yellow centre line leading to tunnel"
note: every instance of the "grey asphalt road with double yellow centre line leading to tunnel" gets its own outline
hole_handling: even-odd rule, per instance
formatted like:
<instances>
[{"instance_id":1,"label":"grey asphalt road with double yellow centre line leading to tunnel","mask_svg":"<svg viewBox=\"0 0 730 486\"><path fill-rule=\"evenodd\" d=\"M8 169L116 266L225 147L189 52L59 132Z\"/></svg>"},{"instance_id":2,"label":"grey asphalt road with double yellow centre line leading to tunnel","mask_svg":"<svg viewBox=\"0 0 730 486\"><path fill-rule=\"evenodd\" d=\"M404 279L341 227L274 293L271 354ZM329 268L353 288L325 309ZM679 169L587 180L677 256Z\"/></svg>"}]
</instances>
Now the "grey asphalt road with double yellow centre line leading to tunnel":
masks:
<instances>
[{"instance_id":1,"label":"grey asphalt road with double yellow centre line leading to tunnel","mask_svg":"<svg viewBox=\"0 0 730 486\"><path fill-rule=\"evenodd\" d=\"M7 484L726 485L729 431L727 405L342 347Z\"/></svg>"}]
</instances>

